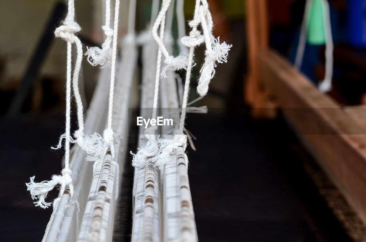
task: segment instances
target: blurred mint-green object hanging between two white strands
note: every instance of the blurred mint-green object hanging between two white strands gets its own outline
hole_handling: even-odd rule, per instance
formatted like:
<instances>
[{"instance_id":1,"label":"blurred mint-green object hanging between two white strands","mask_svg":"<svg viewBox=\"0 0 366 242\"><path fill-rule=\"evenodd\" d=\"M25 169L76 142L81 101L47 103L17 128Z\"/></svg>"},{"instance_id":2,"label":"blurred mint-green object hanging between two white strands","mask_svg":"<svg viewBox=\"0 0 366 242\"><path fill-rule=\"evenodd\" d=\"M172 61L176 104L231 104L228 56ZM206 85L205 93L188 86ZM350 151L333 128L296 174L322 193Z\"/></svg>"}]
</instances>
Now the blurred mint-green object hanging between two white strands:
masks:
<instances>
[{"instance_id":1,"label":"blurred mint-green object hanging between two white strands","mask_svg":"<svg viewBox=\"0 0 366 242\"><path fill-rule=\"evenodd\" d=\"M308 22L307 41L312 45L324 45L324 18L322 0L313 0Z\"/></svg>"}]
</instances>

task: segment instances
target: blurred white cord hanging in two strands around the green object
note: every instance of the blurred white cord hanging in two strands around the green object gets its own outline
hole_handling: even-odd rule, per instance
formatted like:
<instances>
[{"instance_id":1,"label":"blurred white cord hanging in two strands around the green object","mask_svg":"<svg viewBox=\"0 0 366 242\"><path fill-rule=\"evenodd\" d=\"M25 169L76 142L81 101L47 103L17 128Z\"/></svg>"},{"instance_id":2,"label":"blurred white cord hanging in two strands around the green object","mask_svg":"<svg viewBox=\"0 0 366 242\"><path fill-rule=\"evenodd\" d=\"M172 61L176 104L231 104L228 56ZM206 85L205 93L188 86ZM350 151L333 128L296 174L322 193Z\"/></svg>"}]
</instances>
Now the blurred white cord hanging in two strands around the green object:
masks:
<instances>
[{"instance_id":1,"label":"blurred white cord hanging in two strands around the green object","mask_svg":"<svg viewBox=\"0 0 366 242\"><path fill-rule=\"evenodd\" d=\"M298 70L301 69L302 60L304 57L306 38L308 31L309 18L311 13L311 6L313 0L307 0L305 3L304 16L300 29L300 37L298 49L296 51L295 64L294 67ZM333 76L333 37L332 29L330 23L329 14L329 3L327 0L321 0L322 10L323 10L323 24L325 31L325 77L322 80L318 88L322 92L328 92L332 89L332 76Z\"/></svg>"}]
</instances>

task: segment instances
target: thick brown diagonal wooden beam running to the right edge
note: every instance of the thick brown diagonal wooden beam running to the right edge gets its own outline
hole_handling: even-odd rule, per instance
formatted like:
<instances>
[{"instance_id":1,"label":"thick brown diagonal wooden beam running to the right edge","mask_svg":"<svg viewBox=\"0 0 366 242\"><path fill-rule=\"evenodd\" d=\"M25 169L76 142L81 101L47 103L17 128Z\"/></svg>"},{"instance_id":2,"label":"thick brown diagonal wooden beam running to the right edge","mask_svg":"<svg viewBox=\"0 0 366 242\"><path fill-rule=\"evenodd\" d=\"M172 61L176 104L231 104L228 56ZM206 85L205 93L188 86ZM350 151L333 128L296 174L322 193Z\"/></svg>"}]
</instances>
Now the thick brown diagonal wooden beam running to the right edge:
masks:
<instances>
[{"instance_id":1,"label":"thick brown diagonal wooden beam running to the right edge","mask_svg":"<svg viewBox=\"0 0 366 242\"><path fill-rule=\"evenodd\" d=\"M276 52L259 62L296 133L366 223L366 129Z\"/></svg>"}]
</instances>

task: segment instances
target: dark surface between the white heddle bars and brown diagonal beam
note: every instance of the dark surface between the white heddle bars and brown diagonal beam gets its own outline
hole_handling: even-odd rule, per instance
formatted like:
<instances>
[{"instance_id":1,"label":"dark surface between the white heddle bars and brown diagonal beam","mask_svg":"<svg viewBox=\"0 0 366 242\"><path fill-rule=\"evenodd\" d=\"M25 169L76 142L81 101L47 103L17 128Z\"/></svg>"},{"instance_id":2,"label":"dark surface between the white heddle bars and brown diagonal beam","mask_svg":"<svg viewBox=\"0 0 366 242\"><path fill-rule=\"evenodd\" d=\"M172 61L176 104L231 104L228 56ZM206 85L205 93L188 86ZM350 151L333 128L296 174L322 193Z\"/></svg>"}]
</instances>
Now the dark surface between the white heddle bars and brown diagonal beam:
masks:
<instances>
[{"instance_id":1,"label":"dark surface between the white heddle bars and brown diagonal beam","mask_svg":"<svg viewBox=\"0 0 366 242\"><path fill-rule=\"evenodd\" d=\"M188 174L200 241L351 241L281 119L192 114L187 128L198 136Z\"/></svg>"}]
</instances>

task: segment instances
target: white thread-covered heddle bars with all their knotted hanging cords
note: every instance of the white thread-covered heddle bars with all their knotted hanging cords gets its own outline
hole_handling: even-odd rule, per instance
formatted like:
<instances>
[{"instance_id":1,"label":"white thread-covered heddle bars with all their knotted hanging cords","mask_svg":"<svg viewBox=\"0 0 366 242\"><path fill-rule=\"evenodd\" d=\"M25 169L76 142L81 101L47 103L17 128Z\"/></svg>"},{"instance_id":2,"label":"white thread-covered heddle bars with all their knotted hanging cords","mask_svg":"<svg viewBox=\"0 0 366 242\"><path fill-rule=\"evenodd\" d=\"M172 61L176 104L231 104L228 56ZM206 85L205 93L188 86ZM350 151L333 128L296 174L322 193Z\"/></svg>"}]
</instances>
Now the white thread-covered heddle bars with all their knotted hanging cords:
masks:
<instances>
[{"instance_id":1,"label":"white thread-covered heddle bars with all their knotted hanging cords","mask_svg":"<svg viewBox=\"0 0 366 242\"><path fill-rule=\"evenodd\" d=\"M68 15L63 25L55 31L57 37L67 41L68 48L66 132L56 147L60 148L65 141L65 165L62 174L53 175L51 181L36 183L35 177L31 177L31 182L27 183L32 198L36 200L34 203L42 208L51 205L45 201L47 193L60 185L60 194L53 202L53 213L42 241L112 241L119 188L124 185L121 183L124 161L128 155L128 108L132 83L136 79L138 44L142 45L143 64L140 116L156 118L161 115L173 123L161 129L141 126L139 148L136 154L131 152L135 167L131 241L198 241L188 182L188 158L184 152L187 135L183 133L186 113L200 111L199 108L191 109L189 103L187 105L191 69L195 65L194 48L206 45L197 88L204 96L214 76L214 67L217 63L227 62L231 45L220 43L219 38L213 37L213 22L206 0L196 1L194 19L190 22L192 31L188 36L184 36L183 0L176 3L163 0L159 12L159 1L153 0L150 27L135 37L136 2L130 0L128 33L122 40L121 58L118 59L119 0L114 4L113 29L111 1L105 1L105 25L102 26L105 42L101 48L88 48L85 53L91 65L102 68L85 125L78 90L83 51L81 41L74 35L80 27L74 20L73 0L68 1ZM176 57L169 53L173 46L174 11L182 37L178 44L181 54ZM201 30L197 29L198 25ZM77 47L74 67L71 63L72 44ZM175 73L180 69L187 70L184 89L180 76ZM70 135L71 83L79 126L74 137ZM71 150L70 143L75 143Z\"/></svg>"}]
</instances>

